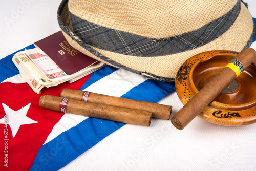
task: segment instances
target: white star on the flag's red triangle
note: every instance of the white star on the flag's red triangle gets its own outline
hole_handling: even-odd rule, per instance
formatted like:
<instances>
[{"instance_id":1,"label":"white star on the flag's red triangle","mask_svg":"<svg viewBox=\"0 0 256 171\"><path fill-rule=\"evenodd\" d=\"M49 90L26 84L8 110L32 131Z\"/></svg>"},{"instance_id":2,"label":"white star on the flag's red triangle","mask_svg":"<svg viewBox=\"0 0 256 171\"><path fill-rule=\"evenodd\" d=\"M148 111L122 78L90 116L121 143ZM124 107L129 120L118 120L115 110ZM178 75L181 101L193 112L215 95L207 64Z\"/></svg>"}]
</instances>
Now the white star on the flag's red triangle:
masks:
<instances>
[{"instance_id":1,"label":"white star on the flag's red triangle","mask_svg":"<svg viewBox=\"0 0 256 171\"><path fill-rule=\"evenodd\" d=\"M29 110L30 104L31 103L26 105L24 108L19 109L18 111L14 111L11 108L9 108L9 106L2 103L5 113L7 115L7 118L8 118L7 124L9 124L9 126L11 127L12 137L15 137L20 125L37 123L37 121L34 121L26 116L27 112ZM5 124L4 118L0 119L0 123Z\"/></svg>"}]
</instances>

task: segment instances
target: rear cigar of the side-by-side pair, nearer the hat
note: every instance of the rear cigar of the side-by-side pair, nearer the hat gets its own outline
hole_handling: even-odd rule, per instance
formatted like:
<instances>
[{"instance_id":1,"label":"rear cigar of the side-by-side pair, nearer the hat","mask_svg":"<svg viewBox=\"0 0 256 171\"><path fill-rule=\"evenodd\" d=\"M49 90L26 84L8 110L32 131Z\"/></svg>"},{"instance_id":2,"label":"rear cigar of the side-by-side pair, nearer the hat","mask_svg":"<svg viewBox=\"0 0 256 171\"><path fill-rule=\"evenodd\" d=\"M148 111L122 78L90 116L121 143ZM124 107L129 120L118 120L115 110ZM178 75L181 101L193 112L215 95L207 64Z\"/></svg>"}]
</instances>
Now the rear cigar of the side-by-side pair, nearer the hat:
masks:
<instances>
[{"instance_id":1,"label":"rear cigar of the side-by-side pair, nearer the hat","mask_svg":"<svg viewBox=\"0 0 256 171\"><path fill-rule=\"evenodd\" d=\"M170 119L172 106L158 103L151 103L139 100L131 100L121 97L113 97L87 91L79 91L72 89L63 89L60 93L61 97L72 98L92 103L113 105L120 108L138 109L152 113L152 117L160 119Z\"/></svg>"}]
</instances>

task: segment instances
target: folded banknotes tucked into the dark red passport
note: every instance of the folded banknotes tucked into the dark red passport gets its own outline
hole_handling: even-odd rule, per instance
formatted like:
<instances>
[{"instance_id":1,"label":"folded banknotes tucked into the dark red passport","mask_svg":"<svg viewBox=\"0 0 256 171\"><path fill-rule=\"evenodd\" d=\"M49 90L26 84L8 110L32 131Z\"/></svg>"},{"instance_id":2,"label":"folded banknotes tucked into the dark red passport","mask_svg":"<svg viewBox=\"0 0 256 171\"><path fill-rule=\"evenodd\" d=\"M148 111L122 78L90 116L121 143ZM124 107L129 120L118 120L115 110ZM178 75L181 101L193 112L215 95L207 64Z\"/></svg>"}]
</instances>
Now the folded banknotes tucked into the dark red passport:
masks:
<instances>
[{"instance_id":1,"label":"folded banknotes tucked into the dark red passport","mask_svg":"<svg viewBox=\"0 0 256 171\"><path fill-rule=\"evenodd\" d=\"M38 47L16 53L12 61L37 94L41 93L42 88L57 86L66 81L74 82L104 66L104 63L95 61L82 70L68 75Z\"/></svg>"}]
</instances>

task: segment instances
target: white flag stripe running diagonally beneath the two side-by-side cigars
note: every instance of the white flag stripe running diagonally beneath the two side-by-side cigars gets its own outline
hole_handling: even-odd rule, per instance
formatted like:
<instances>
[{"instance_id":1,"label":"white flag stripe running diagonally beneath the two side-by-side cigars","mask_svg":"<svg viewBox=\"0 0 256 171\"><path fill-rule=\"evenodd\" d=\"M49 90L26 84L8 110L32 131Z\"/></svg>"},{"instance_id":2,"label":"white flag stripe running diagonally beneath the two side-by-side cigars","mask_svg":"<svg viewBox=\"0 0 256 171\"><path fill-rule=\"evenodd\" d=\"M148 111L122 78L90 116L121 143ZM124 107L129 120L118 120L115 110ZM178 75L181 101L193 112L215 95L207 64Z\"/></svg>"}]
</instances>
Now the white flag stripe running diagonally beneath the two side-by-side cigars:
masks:
<instances>
[{"instance_id":1,"label":"white flag stripe running diagonally beneath the two side-by-side cigars","mask_svg":"<svg viewBox=\"0 0 256 171\"><path fill-rule=\"evenodd\" d=\"M119 69L110 75L101 78L84 90L98 94L120 97L145 80L147 79L141 75ZM59 122L56 123L56 125L53 127L52 132L49 134L44 144L56 138L62 132L71 129L73 126L76 126L87 118L88 117L80 115L73 115L68 113L64 114Z\"/></svg>"}]
</instances>

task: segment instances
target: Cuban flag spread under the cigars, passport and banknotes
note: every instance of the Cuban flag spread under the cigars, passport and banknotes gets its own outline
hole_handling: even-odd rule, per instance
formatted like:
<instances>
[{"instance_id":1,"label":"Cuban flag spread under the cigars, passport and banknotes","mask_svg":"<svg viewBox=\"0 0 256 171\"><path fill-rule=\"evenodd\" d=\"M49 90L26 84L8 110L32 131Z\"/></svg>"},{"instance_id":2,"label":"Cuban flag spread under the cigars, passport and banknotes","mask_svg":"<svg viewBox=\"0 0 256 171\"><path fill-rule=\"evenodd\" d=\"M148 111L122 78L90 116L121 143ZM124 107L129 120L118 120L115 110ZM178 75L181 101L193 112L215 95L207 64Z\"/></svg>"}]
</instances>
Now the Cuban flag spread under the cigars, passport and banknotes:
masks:
<instances>
[{"instance_id":1,"label":"Cuban flag spread under the cigars, passport and banknotes","mask_svg":"<svg viewBox=\"0 0 256 171\"><path fill-rule=\"evenodd\" d=\"M105 66L38 95L19 74L13 54L0 60L0 170L58 170L124 125L42 109L42 95L59 96L68 88L156 103L175 91L172 83Z\"/></svg>"}]
</instances>

